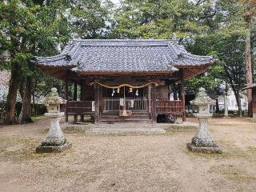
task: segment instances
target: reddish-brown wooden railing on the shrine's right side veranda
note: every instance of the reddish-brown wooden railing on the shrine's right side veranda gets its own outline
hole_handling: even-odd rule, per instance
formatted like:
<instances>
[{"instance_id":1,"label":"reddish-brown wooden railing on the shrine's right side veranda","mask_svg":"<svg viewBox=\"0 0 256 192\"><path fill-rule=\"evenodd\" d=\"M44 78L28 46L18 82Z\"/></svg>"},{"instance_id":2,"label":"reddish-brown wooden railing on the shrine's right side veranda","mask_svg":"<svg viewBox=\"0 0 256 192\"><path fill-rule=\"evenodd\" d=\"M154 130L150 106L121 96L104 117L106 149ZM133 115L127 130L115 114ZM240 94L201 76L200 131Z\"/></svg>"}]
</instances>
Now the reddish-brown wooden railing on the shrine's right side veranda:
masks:
<instances>
[{"instance_id":1,"label":"reddish-brown wooden railing on the shrine's right side veranda","mask_svg":"<svg viewBox=\"0 0 256 192\"><path fill-rule=\"evenodd\" d=\"M182 114L182 101L156 101L157 114Z\"/></svg>"}]
</instances>

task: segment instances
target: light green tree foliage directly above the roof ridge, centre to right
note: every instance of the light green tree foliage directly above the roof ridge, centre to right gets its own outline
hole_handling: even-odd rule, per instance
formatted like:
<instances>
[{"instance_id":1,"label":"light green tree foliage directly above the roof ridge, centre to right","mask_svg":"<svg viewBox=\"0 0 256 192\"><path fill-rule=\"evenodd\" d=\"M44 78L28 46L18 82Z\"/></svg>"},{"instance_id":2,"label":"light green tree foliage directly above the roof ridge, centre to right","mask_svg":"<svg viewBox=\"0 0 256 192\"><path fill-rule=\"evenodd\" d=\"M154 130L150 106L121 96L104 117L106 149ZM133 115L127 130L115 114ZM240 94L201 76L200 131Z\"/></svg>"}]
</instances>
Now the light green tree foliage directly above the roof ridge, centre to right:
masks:
<instances>
[{"instance_id":1,"label":"light green tree foliage directly above the roof ridge, centre to right","mask_svg":"<svg viewBox=\"0 0 256 192\"><path fill-rule=\"evenodd\" d=\"M201 6L188 0L128 1L114 15L112 35L118 38L178 38L199 34L208 27L198 21Z\"/></svg>"}]
</instances>

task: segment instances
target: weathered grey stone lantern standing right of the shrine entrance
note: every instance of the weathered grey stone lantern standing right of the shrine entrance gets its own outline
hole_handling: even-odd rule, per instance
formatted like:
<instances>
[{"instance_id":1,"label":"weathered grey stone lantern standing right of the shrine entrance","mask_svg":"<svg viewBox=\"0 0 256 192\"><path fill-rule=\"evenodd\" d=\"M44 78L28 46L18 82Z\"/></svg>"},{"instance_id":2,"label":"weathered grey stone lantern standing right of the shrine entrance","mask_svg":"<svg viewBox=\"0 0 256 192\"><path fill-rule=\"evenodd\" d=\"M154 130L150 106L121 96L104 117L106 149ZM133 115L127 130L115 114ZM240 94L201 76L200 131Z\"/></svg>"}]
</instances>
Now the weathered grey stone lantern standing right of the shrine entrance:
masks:
<instances>
[{"instance_id":1,"label":"weathered grey stone lantern standing right of the shrine entrance","mask_svg":"<svg viewBox=\"0 0 256 192\"><path fill-rule=\"evenodd\" d=\"M208 129L208 119L212 116L210 105L214 105L215 101L201 87L196 98L190 103L191 105L198 106L198 113L195 113L194 116L198 118L199 127L194 138L192 138L192 142L187 144L188 149L205 153L221 153L222 150L216 145Z\"/></svg>"}]
</instances>

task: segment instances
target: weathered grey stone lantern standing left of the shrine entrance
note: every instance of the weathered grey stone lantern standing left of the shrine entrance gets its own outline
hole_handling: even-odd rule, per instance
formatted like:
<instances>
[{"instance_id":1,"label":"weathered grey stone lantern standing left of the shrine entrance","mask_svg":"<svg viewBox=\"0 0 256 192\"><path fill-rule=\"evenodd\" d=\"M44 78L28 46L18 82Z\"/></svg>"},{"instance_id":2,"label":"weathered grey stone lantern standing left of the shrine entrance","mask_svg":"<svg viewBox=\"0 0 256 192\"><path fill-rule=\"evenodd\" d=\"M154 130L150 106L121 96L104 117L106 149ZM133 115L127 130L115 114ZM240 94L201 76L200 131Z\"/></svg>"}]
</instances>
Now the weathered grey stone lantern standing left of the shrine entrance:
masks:
<instances>
[{"instance_id":1,"label":"weathered grey stone lantern standing left of the shrine entrance","mask_svg":"<svg viewBox=\"0 0 256 192\"><path fill-rule=\"evenodd\" d=\"M58 96L56 88L52 88L50 94L46 96L44 103L47 113L44 115L50 118L50 130L42 141L41 146L36 148L37 153L62 152L62 150L71 146L69 142L66 142L59 125L62 116L64 116L64 113L60 112L60 105L65 102L66 100Z\"/></svg>"}]
</instances>

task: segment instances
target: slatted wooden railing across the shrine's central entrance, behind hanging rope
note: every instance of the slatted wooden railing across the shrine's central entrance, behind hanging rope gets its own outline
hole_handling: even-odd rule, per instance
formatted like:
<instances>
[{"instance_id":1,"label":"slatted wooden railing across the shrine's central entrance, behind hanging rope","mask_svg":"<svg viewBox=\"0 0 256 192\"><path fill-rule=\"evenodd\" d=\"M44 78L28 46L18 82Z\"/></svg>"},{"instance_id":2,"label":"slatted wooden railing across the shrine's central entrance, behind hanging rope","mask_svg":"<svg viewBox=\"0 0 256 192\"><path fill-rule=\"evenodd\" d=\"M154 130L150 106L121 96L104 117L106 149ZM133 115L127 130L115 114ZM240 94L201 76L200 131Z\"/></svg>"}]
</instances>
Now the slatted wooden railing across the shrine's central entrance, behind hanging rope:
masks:
<instances>
[{"instance_id":1,"label":"slatted wooden railing across the shrine's central entrance, behind hanging rope","mask_svg":"<svg viewBox=\"0 0 256 192\"><path fill-rule=\"evenodd\" d=\"M132 101L133 106L131 106ZM103 106L103 111L121 110L120 98L103 98ZM147 98L126 98L126 110L147 110Z\"/></svg>"}]
</instances>

